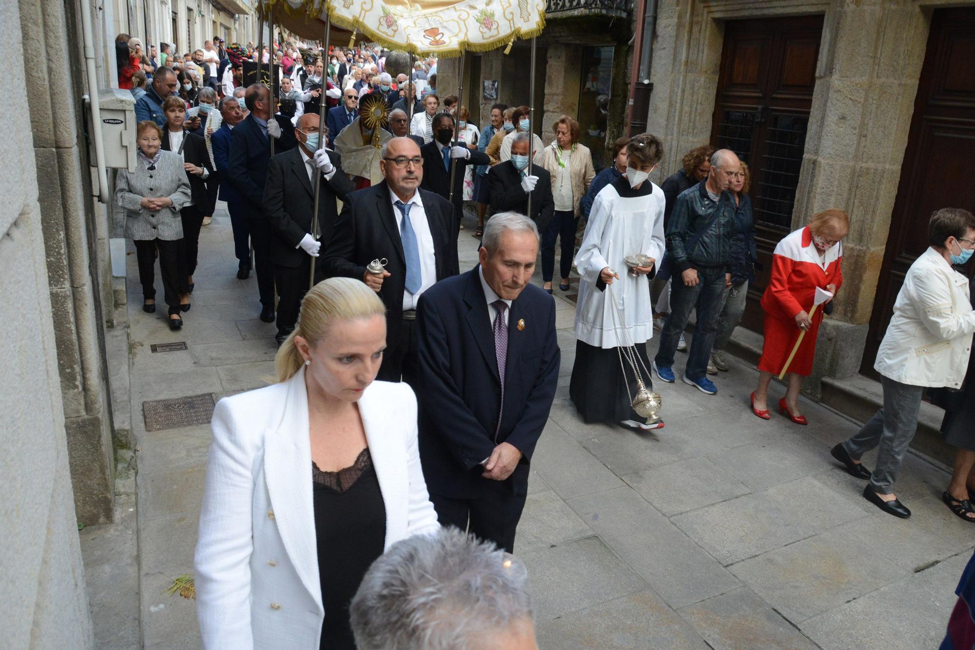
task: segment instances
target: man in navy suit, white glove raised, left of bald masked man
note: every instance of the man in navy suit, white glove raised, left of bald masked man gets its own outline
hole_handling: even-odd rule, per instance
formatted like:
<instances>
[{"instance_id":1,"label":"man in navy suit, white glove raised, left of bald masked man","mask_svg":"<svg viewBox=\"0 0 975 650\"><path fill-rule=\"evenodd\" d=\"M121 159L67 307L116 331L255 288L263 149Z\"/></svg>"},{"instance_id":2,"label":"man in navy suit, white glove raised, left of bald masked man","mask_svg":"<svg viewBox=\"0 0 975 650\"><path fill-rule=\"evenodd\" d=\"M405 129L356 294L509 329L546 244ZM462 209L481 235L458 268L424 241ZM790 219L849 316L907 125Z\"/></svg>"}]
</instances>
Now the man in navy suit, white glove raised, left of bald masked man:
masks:
<instances>
[{"instance_id":1,"label":"man in navy suit, white glove raised, left of bald masked man","mask_svg":"<svg viewBox=\"0 0 975 650\"><path fill-rule=\"evenodd\" d=\"M271 159L271 139L275 151L287 151L294 144L291 120L271 115L271 90L253 84L244 93L250 114L230 132L230 173L228 179L240 193L241 208L251 230L260 319L274 322L274 268L271 264L271 223L264 214L264 182ZM278 119L278 118L281 119Z\"/></svg>"}]
</instances>

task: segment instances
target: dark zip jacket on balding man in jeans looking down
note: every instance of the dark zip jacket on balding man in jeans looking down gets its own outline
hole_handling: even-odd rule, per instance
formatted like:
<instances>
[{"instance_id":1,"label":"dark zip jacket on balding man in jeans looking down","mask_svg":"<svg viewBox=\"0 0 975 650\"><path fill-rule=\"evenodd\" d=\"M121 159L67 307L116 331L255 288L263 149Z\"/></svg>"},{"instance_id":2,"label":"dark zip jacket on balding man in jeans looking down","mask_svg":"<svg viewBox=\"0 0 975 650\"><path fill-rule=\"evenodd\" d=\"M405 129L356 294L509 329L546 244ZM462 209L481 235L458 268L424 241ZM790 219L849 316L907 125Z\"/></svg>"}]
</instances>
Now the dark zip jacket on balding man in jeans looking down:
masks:
<instances>
[{"instance_id":1,"label":"dark zip jacket on balding man in jeans looking down","mask_svg":"<svg viewBox=\"0 0 975 650\"><path fill-rule=\"evenodd\" d=\"M674 202L667 225L667 251L674 256L674 265L682 272L699 266L722 267L731 272L731 240L734 234L735 204L731 192L722 191L718 203L711 200L705 187L707 179L691 185ZM692 250L686 244L701 228L707 227L716 210L721 214L715 223L695 242Z\"/></svg>"}]
</instances>

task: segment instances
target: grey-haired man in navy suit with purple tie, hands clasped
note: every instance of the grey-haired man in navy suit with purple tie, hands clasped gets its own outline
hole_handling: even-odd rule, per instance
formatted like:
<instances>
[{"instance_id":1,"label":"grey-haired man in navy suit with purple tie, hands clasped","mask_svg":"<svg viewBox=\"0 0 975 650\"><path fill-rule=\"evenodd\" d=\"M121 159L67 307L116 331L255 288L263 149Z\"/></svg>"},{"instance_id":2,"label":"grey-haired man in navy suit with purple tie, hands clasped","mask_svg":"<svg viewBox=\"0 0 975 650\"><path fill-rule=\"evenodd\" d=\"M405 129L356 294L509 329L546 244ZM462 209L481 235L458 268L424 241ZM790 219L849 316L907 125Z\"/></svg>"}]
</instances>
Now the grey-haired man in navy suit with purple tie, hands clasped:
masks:
<instances>
[{"instance_id":1,"label":"grey-haired man in navy suit with purple tie, hands clasped","mask_svg":"<svg viewBox=\"0 0 975 650\"><path fill-rule=\"evenodd\" d=\"M524 215L485 226L480 264L420 299L420 463L440 522L508 552L528 463L559 383L555 303L530 284L538 230Z\"/></svg>"}]
</instances>

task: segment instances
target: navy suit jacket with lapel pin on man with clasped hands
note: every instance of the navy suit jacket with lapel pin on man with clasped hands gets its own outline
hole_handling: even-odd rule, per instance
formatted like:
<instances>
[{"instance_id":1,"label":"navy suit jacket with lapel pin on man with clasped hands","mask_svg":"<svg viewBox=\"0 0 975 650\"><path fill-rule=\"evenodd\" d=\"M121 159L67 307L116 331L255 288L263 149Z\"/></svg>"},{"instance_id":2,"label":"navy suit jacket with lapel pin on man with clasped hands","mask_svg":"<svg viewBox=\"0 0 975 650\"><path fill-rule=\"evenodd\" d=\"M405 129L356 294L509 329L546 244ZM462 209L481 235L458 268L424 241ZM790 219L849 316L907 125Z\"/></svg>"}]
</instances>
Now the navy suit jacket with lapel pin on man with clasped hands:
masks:
<instances>
[{"instance_id":1,"label":"navy suit jacket with lapel pin on man with clasped hands","mask_svg":"<svg viewBox=\"0 0 975 650\"><path fill-rule=\"evenodd\" d=\"M427 487L449 498L479 495L490 479L481 462L497 441L524 458L506 479L512 493L527 491L528 463L548 420L559 383L561 352L555 303L528 284L508 314L508 356L501 382L494 335L478 266L438 282L420 296L416 315L420 364L419 448ZM519 322L524 321L524 328Z\"/></svg>"}]
</instances>

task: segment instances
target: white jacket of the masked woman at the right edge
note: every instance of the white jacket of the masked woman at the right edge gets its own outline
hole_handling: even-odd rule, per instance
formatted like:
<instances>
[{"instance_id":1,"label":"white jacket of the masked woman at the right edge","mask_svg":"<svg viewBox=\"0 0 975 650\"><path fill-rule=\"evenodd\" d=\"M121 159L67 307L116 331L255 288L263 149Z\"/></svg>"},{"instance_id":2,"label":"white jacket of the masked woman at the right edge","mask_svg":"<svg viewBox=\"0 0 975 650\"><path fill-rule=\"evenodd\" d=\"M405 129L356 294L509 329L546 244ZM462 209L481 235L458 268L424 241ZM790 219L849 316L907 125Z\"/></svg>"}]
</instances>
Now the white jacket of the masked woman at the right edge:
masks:
<instances>
[{"instance_id":1,"label":"white jacket of the masked woman at the right edge","mask_svg":"<svg viewBox=\"0 0 975 650\"><path fill-rule=\"evenodd\" d=\"M928 248L904 276L874 369L901 384L957 388L968 369L972 332L968 279Z\"/></svg>"}]
</instances>

